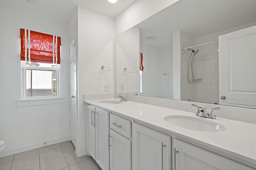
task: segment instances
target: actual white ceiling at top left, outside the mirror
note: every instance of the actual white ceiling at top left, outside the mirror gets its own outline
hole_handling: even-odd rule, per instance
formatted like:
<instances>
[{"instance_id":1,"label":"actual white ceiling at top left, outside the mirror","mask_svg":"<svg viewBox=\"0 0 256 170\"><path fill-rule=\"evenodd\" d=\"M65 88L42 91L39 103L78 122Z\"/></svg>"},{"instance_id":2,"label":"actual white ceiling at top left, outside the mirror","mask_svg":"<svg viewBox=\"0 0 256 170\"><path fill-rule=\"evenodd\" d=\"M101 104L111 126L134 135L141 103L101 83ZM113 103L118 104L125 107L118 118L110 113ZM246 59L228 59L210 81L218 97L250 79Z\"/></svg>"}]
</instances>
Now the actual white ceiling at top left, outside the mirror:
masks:
<instances>
[{"instance_id":1,"label":"actual white ceiling at top left, outside the mirror","mask_svg":"<svg viewBox=\"0 0 256 170\"><path fill-rule=\"evenodd\" d=\"M37 11L47 11L56 19L68 21L76 6L82 6L95 12L99 12L111 18L116 18L128 6L136 0L118 0L112 4L108 0L36 0L36 3L29 3L26 0L0 0L0 5L19 6L20 8L34 8ZM25 8L25 9L26 9Z\"/></svg>"}]
</instances>

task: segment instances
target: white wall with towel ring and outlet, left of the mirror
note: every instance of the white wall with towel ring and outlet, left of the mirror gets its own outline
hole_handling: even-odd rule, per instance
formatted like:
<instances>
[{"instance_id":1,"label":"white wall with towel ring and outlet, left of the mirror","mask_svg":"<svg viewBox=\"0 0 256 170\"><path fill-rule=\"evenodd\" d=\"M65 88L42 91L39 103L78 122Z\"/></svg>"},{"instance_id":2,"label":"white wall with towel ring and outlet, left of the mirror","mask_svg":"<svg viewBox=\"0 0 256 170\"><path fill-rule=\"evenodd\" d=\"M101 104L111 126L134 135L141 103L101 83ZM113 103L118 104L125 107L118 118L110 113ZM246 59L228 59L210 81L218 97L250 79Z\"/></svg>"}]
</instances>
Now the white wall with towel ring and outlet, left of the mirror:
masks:
<instances>
[{"instance_id":1,"label":"white wall with towel ring and outlet, left of the mirror","mask_svg":"<svg viewBox=\"0 0 256 170\"><path fill-rule=\"evenodd\" d=\"M78 6L78 150L86 149L83 94L115 92L114 19ZM100 66L109 67L109 72ZM104 92L104 85L108 92Z\"/></svg>"}]
</instances>

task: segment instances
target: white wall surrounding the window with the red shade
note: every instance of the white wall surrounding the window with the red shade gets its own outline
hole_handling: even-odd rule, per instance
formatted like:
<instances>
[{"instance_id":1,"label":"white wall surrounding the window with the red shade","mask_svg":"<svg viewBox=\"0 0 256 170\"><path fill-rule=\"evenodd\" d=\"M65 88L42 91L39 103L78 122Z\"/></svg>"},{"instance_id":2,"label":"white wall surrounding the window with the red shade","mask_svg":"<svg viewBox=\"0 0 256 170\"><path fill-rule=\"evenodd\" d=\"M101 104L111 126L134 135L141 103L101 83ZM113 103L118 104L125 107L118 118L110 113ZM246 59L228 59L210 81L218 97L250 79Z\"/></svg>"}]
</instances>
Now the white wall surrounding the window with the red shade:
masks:
<instances>
[{"instance_id":1,"label":"white wall surrounding the window with the red shade","mask_svg":"<svg viewBox=\"0 0 256 170\"><path fill-rule=\"evenodd\" d=\"M1 156L69 139L68 25L26 6L0 4L0 140ZM64 102L18 107L21 99L20 28L61 37L61 81Z\"/></svg>"}]
</instances>

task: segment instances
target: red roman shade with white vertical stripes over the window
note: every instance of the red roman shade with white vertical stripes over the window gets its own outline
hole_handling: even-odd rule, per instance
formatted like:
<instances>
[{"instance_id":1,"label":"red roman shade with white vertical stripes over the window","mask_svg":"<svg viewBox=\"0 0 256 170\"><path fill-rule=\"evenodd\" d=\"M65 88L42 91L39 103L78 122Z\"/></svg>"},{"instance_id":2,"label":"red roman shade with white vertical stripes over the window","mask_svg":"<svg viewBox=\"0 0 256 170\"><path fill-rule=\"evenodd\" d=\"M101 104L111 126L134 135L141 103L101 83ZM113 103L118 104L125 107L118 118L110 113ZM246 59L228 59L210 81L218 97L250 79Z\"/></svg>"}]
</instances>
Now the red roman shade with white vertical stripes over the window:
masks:
<instances>
[{"instance_id":1,"label":"red roman shade with white vertical stripes over the window","mask_svg":"<svg viewBox=\"0 0 256 170\"><path fill-rule=\"evenodd\" d=\"M60 64L60 37L20 29L20 39L20 60Z\"/></svg>"}]
</instances>

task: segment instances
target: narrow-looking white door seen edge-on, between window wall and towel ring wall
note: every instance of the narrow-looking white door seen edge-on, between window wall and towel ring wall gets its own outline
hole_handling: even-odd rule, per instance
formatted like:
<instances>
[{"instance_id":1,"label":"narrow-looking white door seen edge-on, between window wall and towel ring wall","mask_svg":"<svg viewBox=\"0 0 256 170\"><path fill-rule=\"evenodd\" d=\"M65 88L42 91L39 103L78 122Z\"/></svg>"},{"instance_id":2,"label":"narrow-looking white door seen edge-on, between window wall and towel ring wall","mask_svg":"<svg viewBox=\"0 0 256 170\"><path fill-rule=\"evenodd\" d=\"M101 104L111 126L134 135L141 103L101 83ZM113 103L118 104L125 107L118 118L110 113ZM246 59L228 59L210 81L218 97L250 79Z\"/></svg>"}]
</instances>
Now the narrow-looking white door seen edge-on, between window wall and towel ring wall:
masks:
<instances>
[{"instance_id":1,"label":"narrow-looking white door seen edge-on, between window wall and towel ring wall","mask_svg":"<svg viewBox=\"0 0 256 170\"><path fill-rule=\"evenodd\" d=\"M77 94L76 94L76 44L71 39L69 44L70 57L70 139L76 147Z\"/></svg>"}]
</instances>

